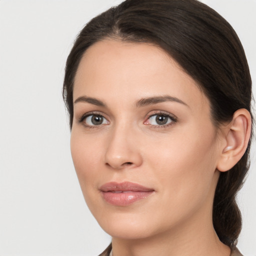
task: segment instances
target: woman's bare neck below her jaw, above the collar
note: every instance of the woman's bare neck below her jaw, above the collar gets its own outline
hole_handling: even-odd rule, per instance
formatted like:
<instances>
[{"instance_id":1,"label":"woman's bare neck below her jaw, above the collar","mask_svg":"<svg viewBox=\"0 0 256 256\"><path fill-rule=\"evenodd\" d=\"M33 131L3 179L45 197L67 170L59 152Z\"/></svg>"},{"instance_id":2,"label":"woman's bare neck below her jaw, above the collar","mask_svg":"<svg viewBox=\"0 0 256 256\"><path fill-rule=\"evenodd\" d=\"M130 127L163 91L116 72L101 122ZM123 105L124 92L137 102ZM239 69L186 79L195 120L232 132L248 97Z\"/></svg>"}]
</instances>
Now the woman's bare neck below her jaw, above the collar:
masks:
<instances>
[{"instance_id":1,"label":"woman's bare neck below her jaw, above the collar","mask_svg":"<svg viewBox=\"0 0 256 256\"><path fill-rule=\"evenodd\" d=\"M204 217L203 217L204 216ZM196 215L183 226L141 239L112 238L113 256L229 256L214 231L211 213Z\"/></svg>"}]
</instances>

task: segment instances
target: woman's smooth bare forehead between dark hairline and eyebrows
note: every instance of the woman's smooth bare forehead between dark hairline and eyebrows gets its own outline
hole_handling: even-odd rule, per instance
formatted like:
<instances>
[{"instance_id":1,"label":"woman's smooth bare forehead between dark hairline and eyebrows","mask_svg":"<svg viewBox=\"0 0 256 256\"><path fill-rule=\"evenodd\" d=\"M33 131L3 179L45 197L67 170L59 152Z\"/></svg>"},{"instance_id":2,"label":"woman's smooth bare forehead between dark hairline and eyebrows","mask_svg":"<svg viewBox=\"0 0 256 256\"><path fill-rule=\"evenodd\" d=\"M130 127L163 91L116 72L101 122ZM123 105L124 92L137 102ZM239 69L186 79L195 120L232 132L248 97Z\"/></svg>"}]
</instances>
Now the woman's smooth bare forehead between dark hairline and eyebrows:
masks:
<instances>
[{"instance_id":1,"label":"woman's smooth bare forehead between dark hairline and eyebrows","mask_svg":"<svg viewBox=\"0 0 256 256\"><path fill-rule=\"evenodd\" d=\"M148 43L98 41L84 53L74 81L73 97L105 100L169 94L191 107L208 104L196 82L163 49Z\"/></svg>"}]
</instances>

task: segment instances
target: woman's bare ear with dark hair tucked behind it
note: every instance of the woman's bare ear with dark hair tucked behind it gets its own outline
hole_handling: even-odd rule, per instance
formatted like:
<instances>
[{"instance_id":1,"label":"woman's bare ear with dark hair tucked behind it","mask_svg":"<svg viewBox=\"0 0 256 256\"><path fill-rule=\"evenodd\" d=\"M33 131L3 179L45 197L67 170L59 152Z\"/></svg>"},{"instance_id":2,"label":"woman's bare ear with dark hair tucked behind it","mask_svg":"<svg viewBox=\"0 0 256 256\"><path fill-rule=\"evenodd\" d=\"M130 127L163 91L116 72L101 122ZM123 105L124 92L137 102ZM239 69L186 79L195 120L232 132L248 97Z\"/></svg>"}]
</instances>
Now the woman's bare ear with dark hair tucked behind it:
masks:
<instances>
[{"instance_id":1,"label":"woman's bare ear with dark hair tucked behind it","mask_svg":"<svg viewBox=\"0 0 256 256\"><path fill-rule=\"evenodd\" d=\"M219 171L231 169L241 159L247 148L250 132L251 116L249 111L244 108L236 110L232 121L224 127L224 143L217 162Z\"/></svg>"}]
</instances>

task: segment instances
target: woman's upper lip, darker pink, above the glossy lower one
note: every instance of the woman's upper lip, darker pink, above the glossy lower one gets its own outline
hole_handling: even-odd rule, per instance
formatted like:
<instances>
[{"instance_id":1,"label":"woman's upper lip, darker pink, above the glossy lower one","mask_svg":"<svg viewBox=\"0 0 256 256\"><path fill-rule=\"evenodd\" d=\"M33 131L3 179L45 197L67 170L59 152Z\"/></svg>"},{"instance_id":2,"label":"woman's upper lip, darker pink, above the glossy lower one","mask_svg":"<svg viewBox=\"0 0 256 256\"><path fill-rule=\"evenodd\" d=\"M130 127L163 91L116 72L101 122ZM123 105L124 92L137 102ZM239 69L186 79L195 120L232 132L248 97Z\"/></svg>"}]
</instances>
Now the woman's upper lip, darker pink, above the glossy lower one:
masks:
<instances>
[{"instance_id":1,"label":"woman's upper lip, darker pink, above the glossy lower one","mask_svg":"<svg viewBox=\"0 0 256 256\"><path fill-rule=\"evenodd\" d=\"M107 191L146 191L146 192L154 191L154 189L152 189L152 188L148 188L148 187L142 186L140 184L128 182L128 181L124 181L121 183L118 183L115 181L107 182L107 183L103 184L102 186L100 186L99 189L103 192L107 192Z\"/></svg>"}]
</instances>

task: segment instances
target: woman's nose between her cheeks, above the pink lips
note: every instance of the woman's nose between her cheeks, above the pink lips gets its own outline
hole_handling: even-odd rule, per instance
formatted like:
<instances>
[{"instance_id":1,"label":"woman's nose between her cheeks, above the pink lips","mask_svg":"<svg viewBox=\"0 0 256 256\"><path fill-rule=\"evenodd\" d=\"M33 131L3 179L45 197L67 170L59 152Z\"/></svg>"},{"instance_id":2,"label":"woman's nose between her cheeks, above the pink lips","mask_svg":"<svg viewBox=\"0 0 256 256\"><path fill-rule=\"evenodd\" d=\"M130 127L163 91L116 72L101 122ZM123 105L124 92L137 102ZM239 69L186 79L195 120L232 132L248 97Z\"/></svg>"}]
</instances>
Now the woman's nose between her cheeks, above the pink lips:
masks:
<instances>
[{"instance_id":1,"label":"woman's nose between her cheeks, above the pink lips","mask_svg":"<svg viewBox=\"0 0 256 256\"><path fill-rule=\"evenodd\" d=\"M116 127L108 137L105 164L113 169L133 168L141 165L139 138L129 127Z\"/></svg>"}]
</instances>

